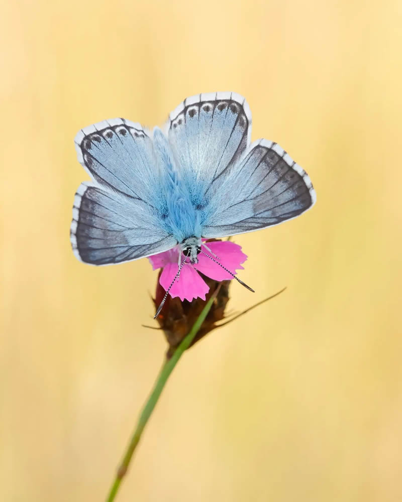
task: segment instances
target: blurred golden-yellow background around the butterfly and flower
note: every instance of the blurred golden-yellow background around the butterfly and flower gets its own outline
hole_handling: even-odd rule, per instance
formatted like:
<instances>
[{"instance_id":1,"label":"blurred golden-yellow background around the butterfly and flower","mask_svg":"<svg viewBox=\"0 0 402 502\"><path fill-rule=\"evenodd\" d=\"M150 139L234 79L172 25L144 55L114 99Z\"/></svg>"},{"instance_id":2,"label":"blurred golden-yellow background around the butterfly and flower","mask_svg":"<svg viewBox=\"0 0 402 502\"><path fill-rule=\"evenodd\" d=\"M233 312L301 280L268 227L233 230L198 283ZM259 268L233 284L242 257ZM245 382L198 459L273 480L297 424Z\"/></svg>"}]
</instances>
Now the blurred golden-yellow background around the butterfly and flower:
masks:
<instances>
[{"instance_id":1,"label":"blurred golden-yellow background around the butterfly and flower","mask_svg":"<svg viewBox=\"0 0 402 502\"><path fill-rule=\"evenodd\" d=\"M236 236L240 311L174 370L117 500L402 499L402 4L19 2L3 6L0 484L7 501L104 500L166 343L146 259L69 242L88 179L73 138L162 123L232 90L252 139L309 173L316 206Z\"/></svg>"}]
</instances>

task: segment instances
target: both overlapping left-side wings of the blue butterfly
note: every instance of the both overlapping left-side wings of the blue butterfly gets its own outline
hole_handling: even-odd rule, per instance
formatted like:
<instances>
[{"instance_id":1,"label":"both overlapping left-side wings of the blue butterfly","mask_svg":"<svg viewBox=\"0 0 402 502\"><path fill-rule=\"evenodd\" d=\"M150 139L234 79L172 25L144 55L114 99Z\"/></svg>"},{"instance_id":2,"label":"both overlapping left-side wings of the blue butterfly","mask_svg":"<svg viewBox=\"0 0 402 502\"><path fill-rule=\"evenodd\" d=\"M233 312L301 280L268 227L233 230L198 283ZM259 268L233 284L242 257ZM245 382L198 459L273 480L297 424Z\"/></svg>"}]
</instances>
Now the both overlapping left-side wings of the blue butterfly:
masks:
<instances>
[{"instance_id":1,"label":"both overlapping left-side wings of the blue butterfly","mask_svg":"<svg viewBox=\"0 0 402 502\"><path fill-rule=\"evenodd\" d=\"M94 181L81 184L74 198L70 235L78 259L115 264L177 243L160 225L153 145L140 124L104 120L79 131L75 147Z\"/></svg>"}]
</instances>

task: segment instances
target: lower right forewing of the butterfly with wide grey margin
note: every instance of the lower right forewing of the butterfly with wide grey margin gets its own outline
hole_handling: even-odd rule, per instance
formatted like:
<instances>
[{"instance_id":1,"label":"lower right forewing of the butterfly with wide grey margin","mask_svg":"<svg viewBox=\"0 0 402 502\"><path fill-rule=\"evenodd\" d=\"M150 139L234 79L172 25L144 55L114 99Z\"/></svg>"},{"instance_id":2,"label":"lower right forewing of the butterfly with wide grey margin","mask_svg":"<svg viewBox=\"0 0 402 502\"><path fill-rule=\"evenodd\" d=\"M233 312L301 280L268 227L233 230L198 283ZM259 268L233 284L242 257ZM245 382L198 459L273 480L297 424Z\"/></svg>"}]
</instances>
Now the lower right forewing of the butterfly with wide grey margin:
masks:
<instances>
[{"instance_id":1,"label":"lower right forewing of the butterfly with wide grey margin","mask_svg":"<svg viewBox=\"0 0 402 502\"><path fill-rule=\"evenodd\" d=\"M316 195L307 173L276 143L259 140L208 192L203 237L252 232L295 218Z\"/></svg>"}]
</instances>

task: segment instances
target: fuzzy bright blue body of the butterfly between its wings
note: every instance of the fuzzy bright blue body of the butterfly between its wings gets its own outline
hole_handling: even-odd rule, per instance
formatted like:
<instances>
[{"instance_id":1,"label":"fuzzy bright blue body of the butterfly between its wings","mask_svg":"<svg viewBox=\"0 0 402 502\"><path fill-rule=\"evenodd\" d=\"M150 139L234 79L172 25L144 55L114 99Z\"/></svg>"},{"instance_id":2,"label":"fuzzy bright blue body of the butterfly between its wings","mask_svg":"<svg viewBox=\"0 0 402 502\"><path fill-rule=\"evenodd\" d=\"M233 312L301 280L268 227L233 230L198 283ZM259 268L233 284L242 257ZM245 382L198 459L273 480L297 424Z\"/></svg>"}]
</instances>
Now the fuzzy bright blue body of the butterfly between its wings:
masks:
<instances>
[{"instance_id":1,"label":"fuzzy bright blue body of the butterfly between its wings","mask_svg":"<svg viewBox=\"0 0 402 502\"><path fill-rule=\"evenodd\" d=\"M200 238L203 212L196 208L190 180L178 171L169 143L159 128L154 129L154 148L161 176L156 204L161 224L177 242L192 236Z\"/></svg>"}]
</instances>

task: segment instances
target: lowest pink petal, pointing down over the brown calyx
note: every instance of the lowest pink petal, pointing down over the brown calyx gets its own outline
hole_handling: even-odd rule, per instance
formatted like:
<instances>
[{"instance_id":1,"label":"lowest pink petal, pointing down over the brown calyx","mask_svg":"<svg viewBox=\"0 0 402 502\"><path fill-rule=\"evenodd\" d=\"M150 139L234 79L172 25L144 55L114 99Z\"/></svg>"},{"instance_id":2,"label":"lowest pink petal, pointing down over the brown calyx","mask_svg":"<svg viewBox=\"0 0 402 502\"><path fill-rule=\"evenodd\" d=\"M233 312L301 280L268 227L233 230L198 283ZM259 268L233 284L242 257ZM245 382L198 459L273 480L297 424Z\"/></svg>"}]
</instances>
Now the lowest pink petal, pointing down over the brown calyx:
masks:
<instances>
[{"instance_id":1,"label":"lowest pink petal, pointing down over the brown calyx","mask_svg":"<svg viewBox=\"0 0 402 502\"><path fill-rule=\"evenodd\" d=\"M159 279L160 285L166 291L177 274L177 262L168 263L165 265ZM170 288L169 294L172 298L178 296L181 301L184 299L189 302L194 298L202 298L205 300L205 295L209 291L206 282L192 268L192 265L186 263L180 272L180 277Z\"/></svg>"}]
</instances>

